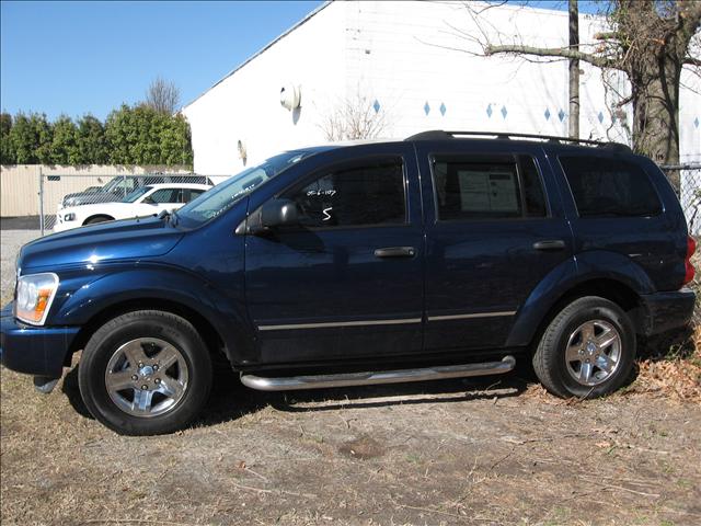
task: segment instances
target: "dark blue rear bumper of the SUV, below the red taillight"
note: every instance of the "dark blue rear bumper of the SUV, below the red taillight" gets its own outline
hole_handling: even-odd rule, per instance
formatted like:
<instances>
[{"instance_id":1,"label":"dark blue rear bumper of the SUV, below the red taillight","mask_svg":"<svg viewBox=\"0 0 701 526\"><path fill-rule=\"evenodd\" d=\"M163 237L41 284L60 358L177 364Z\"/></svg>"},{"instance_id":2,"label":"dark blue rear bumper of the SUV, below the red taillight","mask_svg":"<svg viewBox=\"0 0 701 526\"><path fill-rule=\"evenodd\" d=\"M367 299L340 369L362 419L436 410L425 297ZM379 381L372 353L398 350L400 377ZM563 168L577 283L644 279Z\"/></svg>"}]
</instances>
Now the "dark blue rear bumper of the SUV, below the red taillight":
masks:
<instances>
[{"instance_id":1,"label":"dark blue rear bumper of the SUV, below the red taillight","mask_svg":"<svg viewBox=\"0 0 701 526\"><path fill-rule=\"evenodd\" d=\"M690 288L641 296L646 336L686 327L693 316L696 295Z\"/></svg>"}]
</instances>

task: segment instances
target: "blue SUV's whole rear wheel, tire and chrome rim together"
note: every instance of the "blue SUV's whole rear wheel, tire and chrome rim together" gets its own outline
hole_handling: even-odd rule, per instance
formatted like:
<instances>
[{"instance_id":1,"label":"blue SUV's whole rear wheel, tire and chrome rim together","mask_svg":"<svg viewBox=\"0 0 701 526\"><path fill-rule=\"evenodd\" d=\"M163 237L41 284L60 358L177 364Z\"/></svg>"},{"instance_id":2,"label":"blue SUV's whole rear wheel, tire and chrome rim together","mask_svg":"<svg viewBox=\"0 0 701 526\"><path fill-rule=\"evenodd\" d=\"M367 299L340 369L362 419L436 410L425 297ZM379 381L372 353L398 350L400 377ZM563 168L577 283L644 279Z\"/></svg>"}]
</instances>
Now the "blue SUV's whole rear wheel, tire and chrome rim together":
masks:
<instances>
[{"instance_id":1,"label":"blue SUV's whole rear wheel, tire and chrome rim together","mask_svg":"<svg viewBox=\"0 0 701 526\"><path fill-rule=\"evenodd\" d=\"M554 395L596 398L621 387L634 359L630 317L617 304L588 296L566 306L545 328L533 369Z\"/></svg>"}]
</instances>

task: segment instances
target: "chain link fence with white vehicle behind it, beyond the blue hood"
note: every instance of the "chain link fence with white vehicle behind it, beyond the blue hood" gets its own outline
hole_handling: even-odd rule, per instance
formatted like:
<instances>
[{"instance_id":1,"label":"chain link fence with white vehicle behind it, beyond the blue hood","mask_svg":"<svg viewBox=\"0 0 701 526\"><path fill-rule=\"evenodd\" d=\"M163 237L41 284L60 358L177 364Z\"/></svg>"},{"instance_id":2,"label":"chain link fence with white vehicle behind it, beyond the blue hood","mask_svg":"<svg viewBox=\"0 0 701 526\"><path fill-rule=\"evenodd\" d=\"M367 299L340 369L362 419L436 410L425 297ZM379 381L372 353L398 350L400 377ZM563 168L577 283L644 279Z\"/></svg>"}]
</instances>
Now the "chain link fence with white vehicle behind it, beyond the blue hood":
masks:
<instances>
[{"instance_id":1,"label":"chain link fence with white vehicle behind it, beyond the blue hood","mask_svg":"<svg viewBox=\"0 0 701 526\"><path fill-rule=\"evenodd\" d=\"M177 208L215 182L194 173L39 174L37 228L55 230ZM166 185L166 186L153 186ZM205 185L205 186L197 186ZM115 206L115 204L120 203Z\"/></svg>"}]
</instances>

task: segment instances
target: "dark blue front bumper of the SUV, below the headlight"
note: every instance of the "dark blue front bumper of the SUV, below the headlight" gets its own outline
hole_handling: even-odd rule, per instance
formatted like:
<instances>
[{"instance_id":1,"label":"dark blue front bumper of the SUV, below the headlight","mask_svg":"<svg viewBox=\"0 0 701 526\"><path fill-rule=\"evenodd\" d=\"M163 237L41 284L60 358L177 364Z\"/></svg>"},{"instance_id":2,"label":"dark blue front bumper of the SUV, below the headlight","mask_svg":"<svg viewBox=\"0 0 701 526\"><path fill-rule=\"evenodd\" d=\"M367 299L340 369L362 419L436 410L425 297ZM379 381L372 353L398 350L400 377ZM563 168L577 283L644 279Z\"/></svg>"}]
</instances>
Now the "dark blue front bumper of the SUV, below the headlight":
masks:
<instances>
[{"instance_id":1,"label":"dark blue front bumper of the SUV, below the headlight","mask_svg":"<svg viewBox=\"0 0 701 526\"><path fill-rule=\"evenodd\" d=\"M8 304L0 312L0 362L18 373L58 378L79 330L18 323Z\"/></svg>"}]
</instances>

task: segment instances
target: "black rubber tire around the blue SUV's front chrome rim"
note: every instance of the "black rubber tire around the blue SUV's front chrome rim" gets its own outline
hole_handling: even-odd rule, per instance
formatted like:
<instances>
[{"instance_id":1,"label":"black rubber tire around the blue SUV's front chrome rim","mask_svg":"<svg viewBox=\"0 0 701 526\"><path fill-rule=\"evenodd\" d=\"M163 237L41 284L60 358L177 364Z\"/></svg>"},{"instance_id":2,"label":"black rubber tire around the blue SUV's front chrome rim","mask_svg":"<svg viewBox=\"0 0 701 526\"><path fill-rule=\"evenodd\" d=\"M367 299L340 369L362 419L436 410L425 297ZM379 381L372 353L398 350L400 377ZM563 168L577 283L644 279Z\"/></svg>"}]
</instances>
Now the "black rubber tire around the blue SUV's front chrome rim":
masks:
<instances>
[{"instance_id":1,"label":"black rubber tire around the blue SUV's front chrome rim","mask_svg":"<svg viewBox=\"0 0 701 526\"><path fill-rule=\"evenodd\" d=\"M106 371L111 359L118 354L117 350L123 345L127 342L141 342L149 339L165 342L169 344L169 348L176 351L174 353L179 356L176 370L184 366L187 381L184 384L177 401L163 414L134 415L115 402L114 390L111 393L107 389ZM158 355L148 359L157 358ZM127 364L124 367L131 370L131 365ZM141 370L138 369L139 375ZM166 374L165 370L161 370L161 373ZM165 385L165 380L170 380L168 376L163 376L163 380L156 378L158 374L153 371L151 375L154 382L163 381ZM170 312L139 310L114 318L92 335L83 350L78 382L80 393L90 413L111 430L123 435L158 435L180 430L197 415L209 397L211 376L209 352L200 335L187 320ZM141 378L139 376L137 384L148 381ZM156 390L157 386L152 386L152 389ZM133 396L137 397L138 388L128 388L123 392L126 392L125 396L128 397L128 392L131 390L134 391ZM157 396L166 398L162 395ZM175 398L173 397L173 400ZM150 408L150 399L148 403Z\"/></svg>"}]
</instances>

